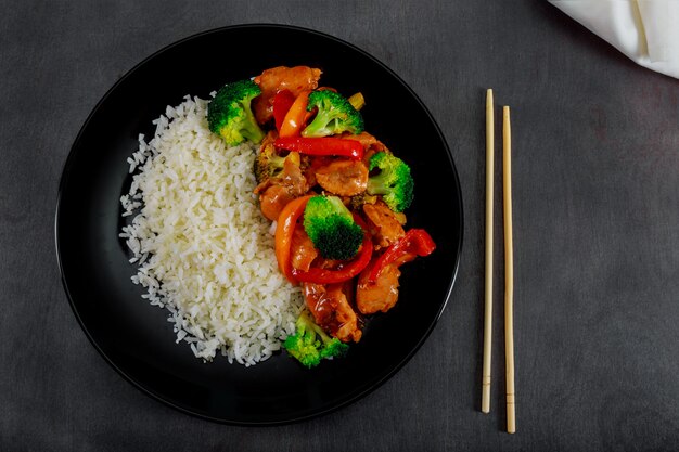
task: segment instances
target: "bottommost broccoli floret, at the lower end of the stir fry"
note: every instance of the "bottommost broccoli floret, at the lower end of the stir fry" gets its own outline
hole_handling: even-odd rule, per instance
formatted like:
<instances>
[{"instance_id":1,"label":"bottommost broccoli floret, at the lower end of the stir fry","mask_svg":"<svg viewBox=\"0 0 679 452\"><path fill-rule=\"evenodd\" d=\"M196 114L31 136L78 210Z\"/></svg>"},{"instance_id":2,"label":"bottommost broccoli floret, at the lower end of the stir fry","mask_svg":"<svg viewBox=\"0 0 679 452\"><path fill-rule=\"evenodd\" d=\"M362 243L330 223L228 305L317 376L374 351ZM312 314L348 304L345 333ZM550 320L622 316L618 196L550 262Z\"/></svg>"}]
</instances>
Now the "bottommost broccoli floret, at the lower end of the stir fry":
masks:
<instances>
[{"instance_id":1,"label":"bottommost broccoli floret, at the lower end of the stir fry","mask_svg":"<svg viewBox=\"0 0 679 452\"><path fill-rule=\"evenodd\" d=\"M295 334L285 338L283 348L305 366L315 367L322 359L343 357L349 346L330 337L303 311L295 322Z\"/></svg>"}]
</instances>

